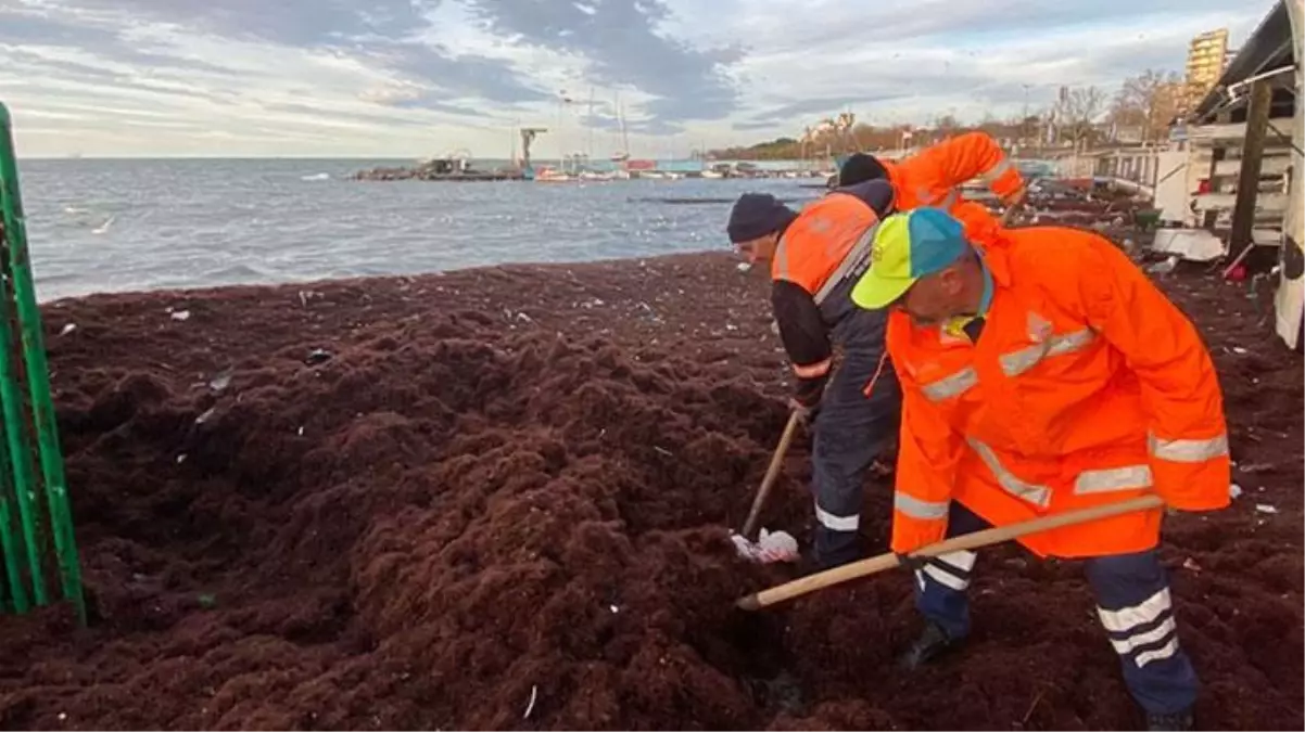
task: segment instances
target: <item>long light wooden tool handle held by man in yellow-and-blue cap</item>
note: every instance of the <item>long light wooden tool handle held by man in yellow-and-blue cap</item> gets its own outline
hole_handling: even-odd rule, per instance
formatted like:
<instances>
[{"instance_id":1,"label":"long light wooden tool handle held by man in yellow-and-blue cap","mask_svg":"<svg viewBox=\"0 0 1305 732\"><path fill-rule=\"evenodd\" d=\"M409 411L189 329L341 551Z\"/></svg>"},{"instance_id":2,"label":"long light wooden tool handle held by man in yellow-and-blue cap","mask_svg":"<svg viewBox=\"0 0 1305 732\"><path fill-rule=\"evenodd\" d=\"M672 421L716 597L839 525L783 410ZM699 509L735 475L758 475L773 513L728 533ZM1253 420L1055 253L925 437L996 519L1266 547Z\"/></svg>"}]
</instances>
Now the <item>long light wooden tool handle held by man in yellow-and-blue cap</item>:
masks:
<instances>
[{"instance_id":1,"label":"long light wooden tool handle held by man in yellow-and-blue cap","mask_svg":"<svg viewBox=\"0 0 1305 732\"><path fill-rule=\"evenodd\" d=\"M950 554L954 551L976 550L1014 539L1017 537L1048 531L1051 529L1060 529L1061 526L1071 526L1074 524L1087 524L1088 521L1098 521L1100 518L1109 518L1112 516L1133 513L1135 511L1160 508L1163 505L1164 501L1160 496L1151 494L1118 503L1094 505L1091 508L1081 508L1078 511L1066 511L1065 513L1043 516L1041 518L1022 521L1019 524L1011 524L1010 526L997 526L955 537L945 542L929 544L911 554L911 556L938 556L941 554ZM814 593L816 590L847 582L848 580L856 580L857 577L865 577L868 574L883 572L885 569L893 569L899 564L900 561L898 561L895 554L881 554L870 559L863 559L861 561L835 567L834 569L827 569L817 574L808 574L806 577L793 580L792 582L786 582L783 585L770 587L769 590L762 590L745 598L740 598L736 604L743 610L761 610L763 607L805 595L806 593Z\"/></svg>"}]
</instances>

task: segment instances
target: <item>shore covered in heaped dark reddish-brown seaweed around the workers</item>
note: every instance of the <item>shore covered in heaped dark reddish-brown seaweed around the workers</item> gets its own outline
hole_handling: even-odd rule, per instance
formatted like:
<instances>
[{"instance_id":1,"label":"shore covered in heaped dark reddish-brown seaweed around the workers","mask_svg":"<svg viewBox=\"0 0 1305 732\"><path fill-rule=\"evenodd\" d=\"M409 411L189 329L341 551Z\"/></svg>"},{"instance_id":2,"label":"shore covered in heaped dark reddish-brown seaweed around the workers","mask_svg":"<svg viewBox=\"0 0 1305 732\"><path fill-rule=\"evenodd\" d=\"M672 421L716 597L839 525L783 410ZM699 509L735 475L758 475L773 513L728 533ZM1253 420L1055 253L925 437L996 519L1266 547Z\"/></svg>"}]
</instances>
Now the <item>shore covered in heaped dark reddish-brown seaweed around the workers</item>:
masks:
<instances>
[{"instance_id":1,"label":"shore covered in heaped dark reddish-brown seaweed around the workers","mask_svg":"<svg viewBox=\"0 0 1305 732\"><path fill-rule=\"evenodd\" d=\"M914 677L904 576L732 610L790 572L727 538L787 393L765 279L735 264L48 305L94 626L0 623L0 727L1137 729L1071 564L987 552L972 642ZM1245 285L1164 284L1246 491L1165 530L1203 725L1301 729L1305 361ZM808 475L800 444L767 526L806 535ZM867 491L878 546L890 500Z\"/></svg>"}]
</instances>

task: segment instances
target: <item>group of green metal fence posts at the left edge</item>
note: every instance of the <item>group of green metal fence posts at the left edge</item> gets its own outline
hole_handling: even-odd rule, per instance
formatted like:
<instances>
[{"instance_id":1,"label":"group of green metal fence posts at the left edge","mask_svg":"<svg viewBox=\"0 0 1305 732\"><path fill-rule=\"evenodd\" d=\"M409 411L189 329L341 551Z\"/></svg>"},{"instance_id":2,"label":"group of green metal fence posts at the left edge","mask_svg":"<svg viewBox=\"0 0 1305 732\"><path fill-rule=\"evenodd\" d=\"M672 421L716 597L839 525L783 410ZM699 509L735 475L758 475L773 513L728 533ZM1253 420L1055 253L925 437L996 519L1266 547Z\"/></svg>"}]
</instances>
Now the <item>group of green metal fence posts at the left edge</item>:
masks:
<instances>
[{"instance_id":1,"label":"group of green metal fence posts at the left edge","mask_svg":"<svg viewBox=\"0 0 1305 732\"><path fill-rule=\"evenodd\" d=\"M27 544L33 597L37 604L48 602L40 570L42 544L37 530L37 481L30 465L30 443L35 442L63 598L73 603L78 620L85 625L86 602L82 595L81 563L77 557L72 511L68 505L68 486L59 445L59 426L55 421L55 406L50 395L50 367L42 337L40 309L37 305L31 277L22 197L18 191L18 162L13 145L13 125L9 109L3 103L0 103L0 208L4 211L3 254L5 255L5 275L8 275L9 284L8 288L0 288L0 399L4 402L4 427L14 478L14 492L23 539ZM23 395L16 378L17 365L13 363L12 358L14 341L10 323L14 320L17 320L35 440L29 438ZM3 509L4 507L0 504L0 521L4 521ZM7 563L9 556L12 552L5 547ZM22 598L16 595L16 599Z\"/></svg>"}]
</instances>

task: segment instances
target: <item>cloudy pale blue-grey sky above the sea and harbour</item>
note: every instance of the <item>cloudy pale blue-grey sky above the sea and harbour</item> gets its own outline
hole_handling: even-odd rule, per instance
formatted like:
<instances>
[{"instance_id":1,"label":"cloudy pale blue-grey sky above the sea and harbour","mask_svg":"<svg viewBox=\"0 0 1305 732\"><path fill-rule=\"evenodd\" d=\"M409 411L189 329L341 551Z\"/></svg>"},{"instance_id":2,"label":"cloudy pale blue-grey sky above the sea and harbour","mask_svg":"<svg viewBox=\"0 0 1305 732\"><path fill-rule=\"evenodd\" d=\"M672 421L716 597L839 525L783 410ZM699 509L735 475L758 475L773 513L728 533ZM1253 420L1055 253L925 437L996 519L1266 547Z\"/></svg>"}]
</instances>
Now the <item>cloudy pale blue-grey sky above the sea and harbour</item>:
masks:
<instances>
[{"instance_id":1,"label":"cloudy pale blue-grey sky above the sea and harbour","mask_svg":"<svg viewBox=\"0 0 1305 732\"><path fill-rule=\"evenodd\" d=\"M25 156L506 158L977 120L1180 70L1272 0L0 0Z\"/></svg>"}]
</instances>

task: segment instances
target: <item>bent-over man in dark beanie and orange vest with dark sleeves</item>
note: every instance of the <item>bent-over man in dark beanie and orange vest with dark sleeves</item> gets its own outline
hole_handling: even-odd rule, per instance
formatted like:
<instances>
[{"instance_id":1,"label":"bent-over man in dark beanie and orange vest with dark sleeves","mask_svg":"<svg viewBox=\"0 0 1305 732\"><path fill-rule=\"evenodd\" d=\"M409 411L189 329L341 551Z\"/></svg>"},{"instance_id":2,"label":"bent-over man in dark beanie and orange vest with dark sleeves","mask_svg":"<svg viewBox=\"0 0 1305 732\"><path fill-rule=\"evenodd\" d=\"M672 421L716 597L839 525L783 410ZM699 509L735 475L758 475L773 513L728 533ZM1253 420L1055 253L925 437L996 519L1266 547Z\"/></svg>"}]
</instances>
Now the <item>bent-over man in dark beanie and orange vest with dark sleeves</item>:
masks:
<instances>
[{"instance_id":1,"label":"bent-over man in dark beanie and orange vest with dark sleeves","mask_svg":"<svg viewBox=\"0 0 1305 732\"><path fill-rule=\"evenodd\" d=\"M900 393L885 359L885 317L848 298L891 198L885 181L872 181L831 191L797 214L769 194L748 193L727 225L750 262L770 263L771 305L796 378L793 406L814 415L810 560L818 569L864 555L861 483L898 426ZM843 352L837 370L835 343Z\"/></svg>"}]
</instances>

